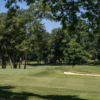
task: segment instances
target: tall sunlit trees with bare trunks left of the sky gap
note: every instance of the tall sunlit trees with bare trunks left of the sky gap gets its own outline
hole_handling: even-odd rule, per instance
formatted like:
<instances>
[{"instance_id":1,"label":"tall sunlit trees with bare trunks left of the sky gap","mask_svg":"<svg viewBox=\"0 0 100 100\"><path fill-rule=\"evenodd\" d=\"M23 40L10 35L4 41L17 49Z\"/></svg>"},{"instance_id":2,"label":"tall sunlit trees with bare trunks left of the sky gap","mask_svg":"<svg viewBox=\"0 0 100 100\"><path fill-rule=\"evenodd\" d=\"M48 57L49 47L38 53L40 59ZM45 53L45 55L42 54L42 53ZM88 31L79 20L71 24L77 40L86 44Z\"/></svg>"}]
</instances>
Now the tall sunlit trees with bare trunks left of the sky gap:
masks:
<instances>
[{"instance_id":1,"label":"tall sunlit trees with bare trunks left of the sky gap","mask_svg":"<svg viewBox=\"0 0 100 100\"><path fill-rule=\"evenodd\" d=\"M6 58L9 58L11 67L13 63L13 68L16 68L16 63L20 63L20 57L23 54L25 54L24 68L26 68L27 53L32 41L35 39L35 35L38 35L38 33L41 35L45 32L43 24L34 15L36 12L31 13L30 11L18 10L11 18L9 12L0 14L2 68L6 68Z\"/></svg>"}]
</instances>

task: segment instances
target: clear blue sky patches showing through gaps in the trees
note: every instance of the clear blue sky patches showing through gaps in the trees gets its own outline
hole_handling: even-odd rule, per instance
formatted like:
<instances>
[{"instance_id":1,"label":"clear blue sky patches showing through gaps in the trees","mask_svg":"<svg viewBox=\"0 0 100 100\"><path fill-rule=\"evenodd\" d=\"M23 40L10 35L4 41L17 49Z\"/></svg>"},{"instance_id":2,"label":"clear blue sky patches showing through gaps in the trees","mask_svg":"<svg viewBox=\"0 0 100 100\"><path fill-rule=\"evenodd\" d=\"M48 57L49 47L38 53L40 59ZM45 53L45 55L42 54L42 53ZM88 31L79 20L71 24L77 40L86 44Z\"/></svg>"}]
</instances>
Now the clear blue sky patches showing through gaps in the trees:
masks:
<instances>
[{"instance_id":1,"label":"clear blue sky patches showing through gaps in the trees","mask_svg":"<svg viewBox=\"0 0 100 100\"><path fill-rule=\"evenodd\" d=\"M5 3L6 3L6 1L0 0L0 13L7 12L7 9L5 8ZM29 7L26 5L25 2L18 3L18 5L20 6L20 8L23 8L23 9L27 9ZM52 29L61 27L60 22L54 22L54 21L51 22L51 21L46 20L46 19L43 19L42 23L44 23L45 28L46 28L47 32L49 32L49 33L51 33Z\"/></svg>"}]
</instances>

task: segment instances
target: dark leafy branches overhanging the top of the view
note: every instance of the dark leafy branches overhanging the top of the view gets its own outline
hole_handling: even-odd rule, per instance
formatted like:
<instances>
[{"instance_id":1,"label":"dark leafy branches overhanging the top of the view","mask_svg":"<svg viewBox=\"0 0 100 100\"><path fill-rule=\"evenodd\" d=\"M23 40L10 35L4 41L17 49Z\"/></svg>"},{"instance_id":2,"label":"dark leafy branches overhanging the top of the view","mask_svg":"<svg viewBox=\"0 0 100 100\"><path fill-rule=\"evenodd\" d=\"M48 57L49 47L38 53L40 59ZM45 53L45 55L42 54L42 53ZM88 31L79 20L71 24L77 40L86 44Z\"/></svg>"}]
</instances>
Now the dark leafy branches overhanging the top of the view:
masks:
<instances>
[{"instance_id":1,"label":"dark leafy branches overhanging the top of the view","mask_svg":"<svg viewBox=\"0 0 100 100\"><path fill-rule=\"evenodd\" d=\"M33 4L33 6L39 4L43 8L43 10L41 9L43 12L46 11L48 5L51 16L53 15L56 20L61 21L63 28L66 27L66 22L70 23L70 29L73 31L81 17L88 18L88 21L92 22L91 25L100 25L99 0L7 0L5 6L9 8L9 14L14 15L16 9L19 8L17 2L26 2L27 5ZM39 15L41 15L41 11L38 12ZM77 13L80 13L81 17Z\"/></svg>"}]
</instances>

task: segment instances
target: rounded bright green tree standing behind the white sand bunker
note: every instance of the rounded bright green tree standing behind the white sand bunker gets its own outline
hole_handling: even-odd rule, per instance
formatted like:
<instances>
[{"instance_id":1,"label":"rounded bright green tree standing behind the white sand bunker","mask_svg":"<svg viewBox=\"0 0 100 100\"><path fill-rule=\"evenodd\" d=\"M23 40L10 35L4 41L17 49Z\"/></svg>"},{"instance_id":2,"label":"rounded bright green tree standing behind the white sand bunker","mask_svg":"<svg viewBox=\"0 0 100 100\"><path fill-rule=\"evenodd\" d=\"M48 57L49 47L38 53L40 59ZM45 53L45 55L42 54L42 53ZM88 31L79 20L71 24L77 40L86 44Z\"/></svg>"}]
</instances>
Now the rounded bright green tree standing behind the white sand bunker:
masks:
<instances>
[{"instance_id":1,"label":"rounded bright green tree standing behind the white sand bunker","mask_svg":"<svg viewBox=\"0 0 100 100\"><path fill-rule=\"evenodd\" d=\"M66 44L64 54L73 66L79 63L85 63L89 58L89 53L75 40L71 40Z\"/></svg>"}]
</instances>

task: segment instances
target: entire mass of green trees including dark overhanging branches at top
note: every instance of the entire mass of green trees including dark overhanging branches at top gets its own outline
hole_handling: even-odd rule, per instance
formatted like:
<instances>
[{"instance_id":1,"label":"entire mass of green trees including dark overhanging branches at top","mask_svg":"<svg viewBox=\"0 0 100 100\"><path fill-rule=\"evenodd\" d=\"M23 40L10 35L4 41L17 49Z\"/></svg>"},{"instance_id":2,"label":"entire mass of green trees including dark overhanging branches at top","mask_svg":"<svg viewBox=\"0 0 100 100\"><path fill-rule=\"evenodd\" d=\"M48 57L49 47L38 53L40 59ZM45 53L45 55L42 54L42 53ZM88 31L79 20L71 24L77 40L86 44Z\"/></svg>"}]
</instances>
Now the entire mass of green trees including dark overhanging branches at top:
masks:
<instances>
[{"instance_id":1,"label":"entire mass of green trees including dark overhanging branches at top","mask_svg":"<svg viewBox=\"0 0 100 100\"><path fill-rule=\"evenodd\" d=\"M16 0L8 0L7 13L0 14L0 55L2 68L9 61L16 68L20 59L83 64L88 59L100 59L99 1L40 1L28 9L11 6ZM19 0L20 1L20 0ZM47 5L48 4L48 5ZM67 6L66 6L67 5ZM68 8L67 8L68 7ZM87 12L81 12L81 8ZM98 9L98 10L96 10ZM67 12L66 12L67 11ZM77 12L81 12L78 17ZM46 32L42 18L61 21L62 27ZM87 20L83 18L88 18Z\"/></svg>"}]
</instances>

